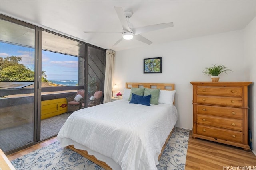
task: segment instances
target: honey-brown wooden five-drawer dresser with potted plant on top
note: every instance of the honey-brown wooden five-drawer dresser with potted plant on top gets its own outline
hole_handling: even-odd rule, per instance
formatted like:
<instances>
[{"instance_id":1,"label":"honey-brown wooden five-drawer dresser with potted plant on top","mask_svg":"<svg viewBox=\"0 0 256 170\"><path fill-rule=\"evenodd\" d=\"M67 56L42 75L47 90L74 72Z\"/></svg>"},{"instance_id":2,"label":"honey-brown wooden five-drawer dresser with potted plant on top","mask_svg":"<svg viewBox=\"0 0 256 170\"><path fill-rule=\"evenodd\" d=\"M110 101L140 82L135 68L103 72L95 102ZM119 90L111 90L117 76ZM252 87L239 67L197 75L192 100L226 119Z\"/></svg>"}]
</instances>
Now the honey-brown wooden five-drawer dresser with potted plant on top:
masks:
<instances>
[{"instance_id":1,"label":"honey-brown wooden five-drawer dresser with potted plant on top","mask_svg":"<svg viewBox=\"0 0 256 170\"><path fill-rule=\"evenodd\" d=\"M193 85L193 138L250 150L247 87L252 82L190 82Z\"/></svg>"}]
</instances>

